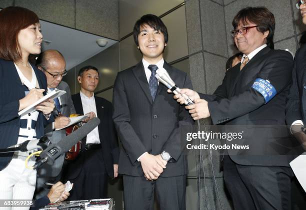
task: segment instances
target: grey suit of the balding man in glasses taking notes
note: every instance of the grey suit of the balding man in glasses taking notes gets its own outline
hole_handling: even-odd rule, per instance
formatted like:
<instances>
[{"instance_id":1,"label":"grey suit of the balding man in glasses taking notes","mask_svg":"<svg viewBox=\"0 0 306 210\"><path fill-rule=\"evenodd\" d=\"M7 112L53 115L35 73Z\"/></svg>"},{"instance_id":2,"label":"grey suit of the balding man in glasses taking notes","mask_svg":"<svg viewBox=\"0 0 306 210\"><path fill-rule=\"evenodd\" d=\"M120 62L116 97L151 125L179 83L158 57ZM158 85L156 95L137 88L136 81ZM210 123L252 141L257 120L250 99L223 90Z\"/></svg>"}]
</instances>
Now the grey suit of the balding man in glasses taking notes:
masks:
<instances>
[{"instance_id":1,"label":"grey suit of the balding man in glasses taking notes","mask_svg":"<svg viewBox=\"0 0 306 210\"><path fill-rule=\"evenodd\" d=\"M74 105L72 103L69 86L66 82L61 81L58 84L57 89L66 91L65 94L63 94L59 97L60 98L60 103L61 103L60 104L60 107L61 107L60 113L61 113L62 116L69 117L69 115L71 113L75 113L75 108L74 108ZM56 118L56 116L58 115L58 112L55 108L54 108L52 114L54 115L54 118ZM61 130L57 130L57 131L54 130L53 131L52 123L48 124L45 127L44 133L45 133L46 136L48 136L51 143L57 143L64 136L66 136L65 129L61 129ZM37 170L37 180L36 180L36 190L35 190L35 198L36 199L47 194L48 190L46 190L44 188L45 187L45 185L44 185L45 181L57 181L57 180L59 180L60 177L58 177L58 176L59 176L59 173L61 171L63 161L64 161L64 154L59 156L52 165L44 164L42 167L40 167Z\"/></svg>"}]
</instances>

